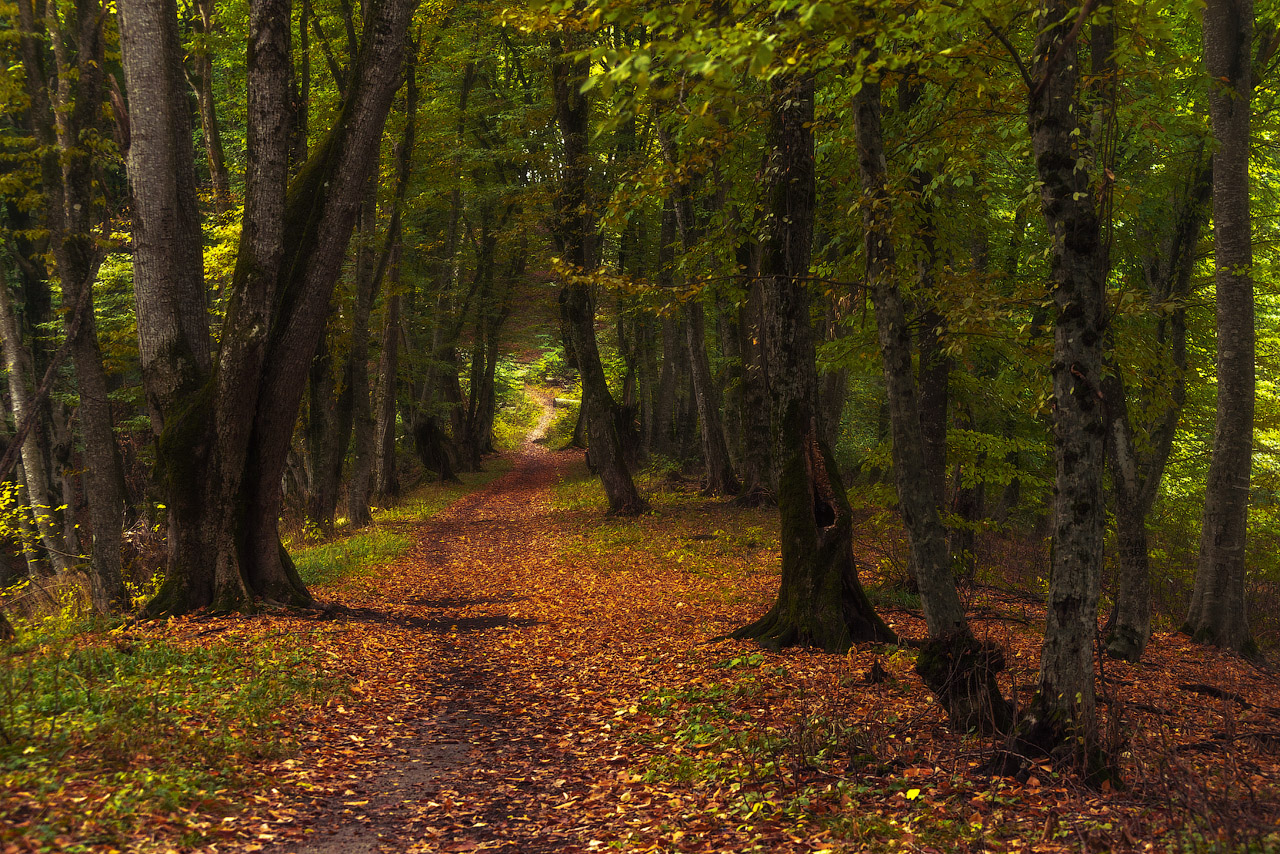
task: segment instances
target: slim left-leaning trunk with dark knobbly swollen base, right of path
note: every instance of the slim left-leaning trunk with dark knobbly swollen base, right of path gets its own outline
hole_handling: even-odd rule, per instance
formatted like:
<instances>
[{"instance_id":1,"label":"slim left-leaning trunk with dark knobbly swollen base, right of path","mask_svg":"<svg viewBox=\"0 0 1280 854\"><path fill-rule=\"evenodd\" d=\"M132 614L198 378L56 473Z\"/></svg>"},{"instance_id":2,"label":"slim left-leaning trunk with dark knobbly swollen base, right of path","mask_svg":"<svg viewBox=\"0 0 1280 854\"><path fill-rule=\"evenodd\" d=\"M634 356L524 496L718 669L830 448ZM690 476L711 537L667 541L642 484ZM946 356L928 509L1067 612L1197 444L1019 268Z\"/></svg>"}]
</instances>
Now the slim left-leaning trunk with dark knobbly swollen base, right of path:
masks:
<instances>
[{"instance_id":1,"label":"slim left-leaning trunk with dark knobbly swollen base, right of path","mask_svg":"<svg viewBox=\"0 0 1280 854\"><path fill-rule=\"evenodd\" d=\"M865 211L867 280L876 305L897 502L929 631L929 644L916 661L916 672L947 709L952 726L961 731L1004 731L1012 718L996 685L1004 654L998 648L979 644L969 629L951 574L946 528L938 516L937 472L929 470L931 462L938 463L928 458L931 448L922 429L911 367L911 332L895 278L897 260L890 228L892 200L886 179L879 101L879 81L864 81L854 97L854 122Z\"/></svg>"}]
</instances>

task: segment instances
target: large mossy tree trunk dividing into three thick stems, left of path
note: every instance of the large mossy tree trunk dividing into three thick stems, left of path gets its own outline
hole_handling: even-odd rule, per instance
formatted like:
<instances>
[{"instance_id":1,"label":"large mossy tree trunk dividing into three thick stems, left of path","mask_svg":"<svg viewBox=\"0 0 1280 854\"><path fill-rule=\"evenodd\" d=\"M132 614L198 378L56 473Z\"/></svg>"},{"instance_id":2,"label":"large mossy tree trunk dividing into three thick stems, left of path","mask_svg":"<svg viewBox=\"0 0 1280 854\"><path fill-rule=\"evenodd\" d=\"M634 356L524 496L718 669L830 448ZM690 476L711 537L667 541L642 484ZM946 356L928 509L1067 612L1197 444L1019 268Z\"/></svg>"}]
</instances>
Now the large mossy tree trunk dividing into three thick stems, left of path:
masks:
<instances>
[{"instance_id":1,"label":"large mossy tree trunk dividing into three thick stems, left of path","mask_svg":"<svg viewBox=\"0 0 1280 854\"><path fill-rule=\"evenodd\" d=\"M169 507L151 613L312 603L280 545L282 475L413 5L370 5L337 124L289 182L288 3L251 4L244 227L215 359L175 9L122 4L128 91L148 105L131 114L128 166L140 355Z\"/></svg>"}]
</instances>

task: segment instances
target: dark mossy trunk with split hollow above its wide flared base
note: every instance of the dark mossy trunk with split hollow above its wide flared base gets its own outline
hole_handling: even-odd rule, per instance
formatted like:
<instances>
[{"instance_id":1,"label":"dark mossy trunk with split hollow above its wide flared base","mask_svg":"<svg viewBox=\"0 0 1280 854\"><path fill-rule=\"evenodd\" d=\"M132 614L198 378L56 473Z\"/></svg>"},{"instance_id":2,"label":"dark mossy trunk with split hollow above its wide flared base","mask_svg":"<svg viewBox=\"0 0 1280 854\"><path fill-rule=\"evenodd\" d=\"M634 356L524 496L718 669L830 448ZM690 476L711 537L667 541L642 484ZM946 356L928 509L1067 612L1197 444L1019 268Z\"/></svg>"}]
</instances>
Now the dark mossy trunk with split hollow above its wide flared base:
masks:
<instances>
[{"instance_id":1,"label":"dark mossy trunk with split hollow above its wide flared base","mask_svg":"<svg viewBox=\"0 0 1280 854\"><path fill-rule=\"evenodd\" d=\"M809 275L814 216L813 77L772 83L765 172L768 238L762 264L765 339L782 515L782 583L763 617L733 632L768 648L794 644L844 652L893 640L872 608L852 549L852 510L818 429L818 375Z\"/></svg>"}]
</instances>

